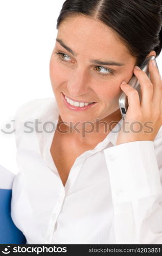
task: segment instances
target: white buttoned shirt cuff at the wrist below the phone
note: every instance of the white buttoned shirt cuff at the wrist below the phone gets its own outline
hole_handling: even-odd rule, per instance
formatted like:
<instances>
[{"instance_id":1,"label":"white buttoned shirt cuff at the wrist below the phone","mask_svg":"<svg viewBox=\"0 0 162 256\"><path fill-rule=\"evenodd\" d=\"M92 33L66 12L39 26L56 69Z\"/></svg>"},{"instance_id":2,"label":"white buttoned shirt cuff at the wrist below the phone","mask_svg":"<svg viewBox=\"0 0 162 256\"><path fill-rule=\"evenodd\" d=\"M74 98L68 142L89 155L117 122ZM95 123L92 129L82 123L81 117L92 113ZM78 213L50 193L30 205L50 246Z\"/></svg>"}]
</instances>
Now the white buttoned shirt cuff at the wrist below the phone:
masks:
<instances>
[{"instance_id":1,"label":"white buttoned shirt cuff at the wrist below the phone","mask_svg":"<svg viewBox=\"0 0 162 256\"><path fill-rule=\"evenodd\" d=\"M104 150L113 204L162 195L153 141L133 141Z\"/></svg>"}]
</instances>

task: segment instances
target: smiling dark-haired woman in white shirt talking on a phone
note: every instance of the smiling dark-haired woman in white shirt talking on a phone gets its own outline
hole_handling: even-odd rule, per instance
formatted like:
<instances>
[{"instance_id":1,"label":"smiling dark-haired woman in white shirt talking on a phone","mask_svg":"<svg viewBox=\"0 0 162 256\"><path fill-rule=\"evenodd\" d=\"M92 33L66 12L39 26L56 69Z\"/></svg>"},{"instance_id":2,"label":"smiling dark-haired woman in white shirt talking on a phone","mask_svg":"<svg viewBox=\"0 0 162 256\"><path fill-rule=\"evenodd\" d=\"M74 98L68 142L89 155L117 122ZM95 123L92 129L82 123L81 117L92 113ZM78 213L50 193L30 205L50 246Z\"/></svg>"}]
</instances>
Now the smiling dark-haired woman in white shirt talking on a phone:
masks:
<instances>
[{"instance_id":1,"label":"smiling dark-haired woman in white shirt talking on a phone","mask_svg":"<svg viewBox=\"0 0 162 256\"><path fill-rule=\"evenodd\" d=\"M150 79L138 67L161 51L161 10L158 0L64 2L50 60L55 99L15 116L12 218L28 244L162 242L162 83L153 61Z\"/></svg>"}]
</instances>

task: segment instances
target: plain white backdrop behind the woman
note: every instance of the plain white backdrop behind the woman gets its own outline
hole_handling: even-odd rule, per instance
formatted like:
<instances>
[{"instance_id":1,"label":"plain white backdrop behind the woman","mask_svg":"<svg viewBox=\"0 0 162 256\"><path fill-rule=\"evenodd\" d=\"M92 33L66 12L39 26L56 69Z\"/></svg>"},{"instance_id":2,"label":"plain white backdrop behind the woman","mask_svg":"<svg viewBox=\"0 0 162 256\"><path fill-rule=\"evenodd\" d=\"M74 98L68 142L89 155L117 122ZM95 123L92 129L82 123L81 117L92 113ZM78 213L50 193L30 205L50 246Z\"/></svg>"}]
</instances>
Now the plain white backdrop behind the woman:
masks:
<instances>
[{"instance_id":1,"label":"plain white backdrop behind the woman","mask_svg":"<svg viewBox=\"0 0 162 256\"><path fill-rule=\"evenodd\" d=\"M14 134L6 135L21 104L53 97L49 61L57 35L56 22L64 0L1 0L0 2L0 164L18 172ZM160 73L162 53L157 58ZM7 130L9 131L9 130Z\"/></svg>"}]
</instances>

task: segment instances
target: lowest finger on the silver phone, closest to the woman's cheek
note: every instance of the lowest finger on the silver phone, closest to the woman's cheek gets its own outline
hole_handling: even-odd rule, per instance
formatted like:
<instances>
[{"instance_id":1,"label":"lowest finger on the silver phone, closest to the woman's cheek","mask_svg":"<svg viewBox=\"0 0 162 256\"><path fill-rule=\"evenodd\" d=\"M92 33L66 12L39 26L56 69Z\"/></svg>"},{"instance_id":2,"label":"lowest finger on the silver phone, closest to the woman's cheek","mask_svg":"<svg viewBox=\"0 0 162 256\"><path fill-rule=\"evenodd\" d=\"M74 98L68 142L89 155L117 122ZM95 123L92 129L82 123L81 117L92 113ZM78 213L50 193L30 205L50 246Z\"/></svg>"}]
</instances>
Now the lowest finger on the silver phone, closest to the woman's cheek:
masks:
<instances>
[{"instance_id":1,"label":"lowest finger on the silver phone, closest to the woman's cheek","mask_svg":"<svg viewBox=\"0 0 162 256\"><path fill-rule=\"evenodd\" d=\"M123 81L123 83L125 83L125 81ZM123 83L121 83L121 89L128 97L128 108L131 109L133 113L138 112L140 109L140 97L138 92L128 83Z\"/></svg>"}]
</instances>

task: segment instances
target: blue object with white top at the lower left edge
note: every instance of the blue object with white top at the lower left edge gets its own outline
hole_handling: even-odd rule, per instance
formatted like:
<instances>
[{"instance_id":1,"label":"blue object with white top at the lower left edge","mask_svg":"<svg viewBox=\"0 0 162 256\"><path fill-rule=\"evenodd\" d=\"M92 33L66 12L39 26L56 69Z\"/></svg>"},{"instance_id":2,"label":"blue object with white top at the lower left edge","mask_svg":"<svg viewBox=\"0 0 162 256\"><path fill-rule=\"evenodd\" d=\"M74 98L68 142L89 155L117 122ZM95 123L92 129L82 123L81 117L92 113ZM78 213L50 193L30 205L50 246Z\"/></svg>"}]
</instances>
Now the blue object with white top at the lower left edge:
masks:
<instances>
[{"instance_id":1,"label":"blue object with white top at the lower left edge","mask_svg":"<svg viewBox=\"0 0 162 256\"><path fill-rule=\"evenodd\" d=\"M0 166L0 244L26 244L24 234L11 219L12 190L8 188L11 187L13 178L13 174Z\"/></svg>"}]
</instances>

